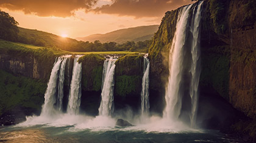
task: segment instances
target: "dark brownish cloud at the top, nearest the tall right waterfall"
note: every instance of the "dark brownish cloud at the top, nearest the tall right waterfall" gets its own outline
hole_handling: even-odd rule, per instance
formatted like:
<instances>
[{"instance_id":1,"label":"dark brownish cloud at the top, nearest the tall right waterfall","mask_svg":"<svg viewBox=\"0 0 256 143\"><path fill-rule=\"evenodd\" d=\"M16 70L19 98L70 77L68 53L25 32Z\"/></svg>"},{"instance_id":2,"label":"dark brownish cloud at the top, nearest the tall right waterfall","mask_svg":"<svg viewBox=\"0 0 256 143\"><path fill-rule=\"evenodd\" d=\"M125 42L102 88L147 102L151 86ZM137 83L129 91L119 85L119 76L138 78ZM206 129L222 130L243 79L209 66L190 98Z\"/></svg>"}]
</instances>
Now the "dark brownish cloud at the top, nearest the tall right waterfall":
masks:
<instances>
[{"instance_id":1,"label":"dark brownish cloud at the top, nearest the tall right waterfall","mask_svg":"<svg viewBox=\"0 0 256 143\"><path fill-rule=\"evenodd\" d=\"M168 10L174 10L191 0L113 0L112 5L94 9L96 13L116 14L119 16L159 17Z\"/></svg>"}]
</instances>

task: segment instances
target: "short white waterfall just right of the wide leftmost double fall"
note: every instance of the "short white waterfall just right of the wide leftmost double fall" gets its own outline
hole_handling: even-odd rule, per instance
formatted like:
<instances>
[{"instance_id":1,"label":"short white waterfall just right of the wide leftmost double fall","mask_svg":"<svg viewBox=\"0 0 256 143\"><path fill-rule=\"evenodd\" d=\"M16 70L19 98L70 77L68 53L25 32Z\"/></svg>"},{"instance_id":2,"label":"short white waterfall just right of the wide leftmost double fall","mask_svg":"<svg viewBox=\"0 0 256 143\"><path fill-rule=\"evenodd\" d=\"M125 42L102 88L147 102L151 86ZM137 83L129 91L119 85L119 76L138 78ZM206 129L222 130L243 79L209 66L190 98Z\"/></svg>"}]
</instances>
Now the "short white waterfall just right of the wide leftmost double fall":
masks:
<instances>
[{"instance_id":1,"label":"short white waterfall just right of the wide leftmost double fall","mask_svg":"<svg viewBox=\"0 0 256 143\"><path fill-rule=\"evenodd\" d=\"M68 113L71 115L77 115L79 113L79 107L81 102L81 79L82 79L82 64L78 61L80 55L76 55L74 59L73 75L71 79L71 85L69 90L68 99Z\"/></svg>"}]
</instances>

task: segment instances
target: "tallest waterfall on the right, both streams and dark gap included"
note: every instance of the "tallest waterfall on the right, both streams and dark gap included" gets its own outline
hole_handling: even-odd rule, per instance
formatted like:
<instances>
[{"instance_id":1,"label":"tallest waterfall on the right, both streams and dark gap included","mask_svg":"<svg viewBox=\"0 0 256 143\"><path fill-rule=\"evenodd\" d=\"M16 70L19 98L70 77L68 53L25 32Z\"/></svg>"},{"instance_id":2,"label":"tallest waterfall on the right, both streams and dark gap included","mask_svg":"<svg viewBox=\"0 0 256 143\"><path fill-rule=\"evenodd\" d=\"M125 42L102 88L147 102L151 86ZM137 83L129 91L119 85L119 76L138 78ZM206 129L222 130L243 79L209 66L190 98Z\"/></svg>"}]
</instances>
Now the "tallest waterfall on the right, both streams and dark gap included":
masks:
<instances>
[{"instance_id":1,"label":"tallest waterfall on the right, both streams and dark gap included","mask_svg":"<svg viewBox=\"0 0 256 143\"><path fill-rule=\"evenodd\" d=\"M169 52L169 78L164 117L190 122L197 110L200 76L199 40L202 1L179 9L176 32ZM184 103L185 104L182 104Z\"/></svg>"}]
</instances>

